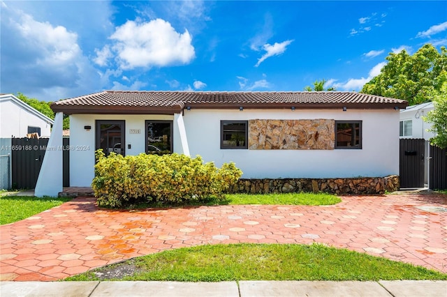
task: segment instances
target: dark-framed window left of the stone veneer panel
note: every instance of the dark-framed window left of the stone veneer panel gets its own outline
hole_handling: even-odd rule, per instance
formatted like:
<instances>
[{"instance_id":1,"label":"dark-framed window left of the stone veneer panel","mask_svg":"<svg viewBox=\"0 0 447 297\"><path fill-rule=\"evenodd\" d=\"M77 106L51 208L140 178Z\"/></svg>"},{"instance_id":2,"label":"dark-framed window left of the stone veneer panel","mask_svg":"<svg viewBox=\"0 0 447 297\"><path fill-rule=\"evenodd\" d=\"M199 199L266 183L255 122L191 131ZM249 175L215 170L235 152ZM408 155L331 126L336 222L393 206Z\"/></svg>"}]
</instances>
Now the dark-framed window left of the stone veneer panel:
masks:
<instances>
[{"instance_id":1,"label":"dark-framed window left of the stone veneer panel","mask_svg":"<svg viewBox=\"0 0 447 297\"><path fill-rule=\"evenodd\" d=\"M221 121L221 148L248 148L247 121Z\"/></svg>"}]
</instances>

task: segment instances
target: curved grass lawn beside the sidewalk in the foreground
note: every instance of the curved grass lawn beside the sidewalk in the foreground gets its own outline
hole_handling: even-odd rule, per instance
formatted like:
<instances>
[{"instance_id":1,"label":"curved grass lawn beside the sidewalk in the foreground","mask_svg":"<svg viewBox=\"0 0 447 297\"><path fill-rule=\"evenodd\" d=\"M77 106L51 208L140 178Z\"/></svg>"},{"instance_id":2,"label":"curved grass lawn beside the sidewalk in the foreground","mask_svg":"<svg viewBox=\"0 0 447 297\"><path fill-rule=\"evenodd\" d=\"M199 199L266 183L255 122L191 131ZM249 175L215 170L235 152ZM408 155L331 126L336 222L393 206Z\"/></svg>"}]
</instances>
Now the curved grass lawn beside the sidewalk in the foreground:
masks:
<instances>
[{"instance_id":1,"label":"curved grass lawn beside the sidewalk in the foreground","mask_svg":"<svg viewBox=\"0 0 447 297\"><path fill-rule=\"evenodd\" d=\"M247 243L168 250L66 280L447 280L447 274L321 244Z\"/></svg>"}]
</instances>

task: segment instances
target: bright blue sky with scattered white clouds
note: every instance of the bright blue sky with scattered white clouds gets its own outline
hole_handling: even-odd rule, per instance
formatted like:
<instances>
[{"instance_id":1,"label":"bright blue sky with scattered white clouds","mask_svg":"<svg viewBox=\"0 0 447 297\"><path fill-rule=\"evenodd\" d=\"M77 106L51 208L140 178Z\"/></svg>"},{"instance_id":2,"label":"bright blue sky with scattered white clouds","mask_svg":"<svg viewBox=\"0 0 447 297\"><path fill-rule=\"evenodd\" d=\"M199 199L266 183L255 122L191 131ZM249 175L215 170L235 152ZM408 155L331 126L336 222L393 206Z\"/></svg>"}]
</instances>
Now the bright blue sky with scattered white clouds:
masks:
<instances>
[{"instance_id":1,"label":"bright blue sky with scattered white clouds","mask_svg":"<svg viewBox=\"0 0 447 297\"><path fill-rule=\"evenodd\" d=\"M0 93L360 91L447 45L446 1L1 1Z\"/></svg>"}]
</instances>

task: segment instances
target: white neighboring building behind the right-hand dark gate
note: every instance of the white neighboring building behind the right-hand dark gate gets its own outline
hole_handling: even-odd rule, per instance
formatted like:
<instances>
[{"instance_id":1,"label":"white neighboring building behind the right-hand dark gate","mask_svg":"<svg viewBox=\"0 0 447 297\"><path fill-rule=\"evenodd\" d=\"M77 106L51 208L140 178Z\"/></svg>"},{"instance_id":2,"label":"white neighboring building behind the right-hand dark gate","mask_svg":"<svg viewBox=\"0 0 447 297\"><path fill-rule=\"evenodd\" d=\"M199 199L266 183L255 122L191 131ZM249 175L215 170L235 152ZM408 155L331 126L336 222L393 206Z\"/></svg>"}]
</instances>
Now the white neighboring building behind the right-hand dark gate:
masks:
<instances>
[{"instance_id":1,"label":"white neighboring building behind the right-hand dark gate","mask_svg":"<svg viewBox=\"0 0 447 297\"><path fill-rule=\"evenodd\" d=\"M423 116L434 109L433 102L412 105L400 111L400 138L423 138L429 140L434 137L429 132L430 123L423 120Z\"/></svg>"}]
</instances>

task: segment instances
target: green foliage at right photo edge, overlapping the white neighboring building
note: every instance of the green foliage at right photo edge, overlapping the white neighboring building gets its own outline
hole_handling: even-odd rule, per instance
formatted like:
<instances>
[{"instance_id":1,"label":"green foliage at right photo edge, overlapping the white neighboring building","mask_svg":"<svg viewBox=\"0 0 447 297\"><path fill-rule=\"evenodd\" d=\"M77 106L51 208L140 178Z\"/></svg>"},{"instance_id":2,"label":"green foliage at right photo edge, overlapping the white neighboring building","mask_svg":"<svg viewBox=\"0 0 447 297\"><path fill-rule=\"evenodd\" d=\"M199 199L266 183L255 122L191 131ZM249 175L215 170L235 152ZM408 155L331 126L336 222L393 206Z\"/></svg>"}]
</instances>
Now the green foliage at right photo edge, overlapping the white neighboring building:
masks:
<instances>
[{"instance_id":1,"label":"green foliage at right photo edge, overlapping the white neighboring building","mask_svg":"<svg viewBox=\"0 0 447 297\"><path fill-rule=\"evenodd\" d=\"M441 91L433 96L433 105L434 109L423 117L424 121L432 124L429 131L436 134L430 139L430 143L447 148L447 82L444 82Z\"/></svg>"}]
</instances>

